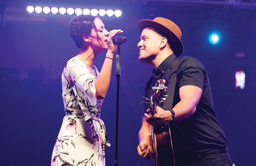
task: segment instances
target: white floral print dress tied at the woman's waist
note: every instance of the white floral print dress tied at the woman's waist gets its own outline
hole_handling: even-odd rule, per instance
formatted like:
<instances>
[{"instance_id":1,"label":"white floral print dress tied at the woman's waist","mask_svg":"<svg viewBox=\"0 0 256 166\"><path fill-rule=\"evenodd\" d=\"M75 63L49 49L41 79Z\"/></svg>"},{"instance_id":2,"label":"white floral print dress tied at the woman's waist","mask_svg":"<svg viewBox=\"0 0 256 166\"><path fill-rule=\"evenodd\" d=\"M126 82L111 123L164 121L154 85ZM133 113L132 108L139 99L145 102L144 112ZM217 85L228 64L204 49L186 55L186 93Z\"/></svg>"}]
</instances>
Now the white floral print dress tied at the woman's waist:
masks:
<instances>
[{"instance_id":1,"label":"white floral print dress tied at the woman's waist","mask_svg":"<svg viewBox=\"0 0 256 166\"><path fill-rule=\"evenodd\" d=\"M98 69L93 68L98 76ZM51 166L105 166L104 147L110 143L100 120L103 100L95 97L95 80L78 57L71 58L64 67L62 97L66 115Z\"/></svg>"}]
</instances>

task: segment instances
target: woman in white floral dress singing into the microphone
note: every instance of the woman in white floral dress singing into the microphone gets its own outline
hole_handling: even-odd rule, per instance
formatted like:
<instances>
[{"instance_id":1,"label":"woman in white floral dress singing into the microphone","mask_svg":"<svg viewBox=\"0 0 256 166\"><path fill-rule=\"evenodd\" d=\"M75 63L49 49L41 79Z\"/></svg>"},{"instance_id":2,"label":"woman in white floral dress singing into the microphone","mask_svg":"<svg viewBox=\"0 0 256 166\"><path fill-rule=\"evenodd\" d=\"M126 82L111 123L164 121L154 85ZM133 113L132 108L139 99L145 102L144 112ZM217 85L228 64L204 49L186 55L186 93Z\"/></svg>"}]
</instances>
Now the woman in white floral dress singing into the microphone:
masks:
<instances>
[{"instance_id":1,"label":"woman in white floral dress singing into the microphone","mask_svg":"<svg viewBox=\"0 0 256 166\"><path fill-rule=\"evenodd\" d=\"M71 58L62 73L62 97L66 115L52 152L51 166L105 166L104 146L110 146L100 120L108 91L113 36L123 31L105 29L102 20L81 15L70 23L70 36L81 52ZM93 66L99 52L107 50L101 72Z\"/></svg>"}]
</instances>

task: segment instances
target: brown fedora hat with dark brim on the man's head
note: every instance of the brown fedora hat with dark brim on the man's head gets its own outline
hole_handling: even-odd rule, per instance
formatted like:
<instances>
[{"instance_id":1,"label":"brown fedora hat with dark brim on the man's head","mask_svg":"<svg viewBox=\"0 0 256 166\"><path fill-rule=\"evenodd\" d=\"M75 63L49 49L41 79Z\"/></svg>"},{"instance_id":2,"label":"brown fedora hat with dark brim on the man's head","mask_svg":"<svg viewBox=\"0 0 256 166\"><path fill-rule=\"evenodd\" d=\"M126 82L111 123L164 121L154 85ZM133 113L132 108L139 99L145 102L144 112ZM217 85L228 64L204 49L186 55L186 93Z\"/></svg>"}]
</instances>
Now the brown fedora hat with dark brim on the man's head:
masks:
<instances>
[{"instance_id":1,"label":"brown fedora hat with dark brim on the man's head","mask_svg":"<svg viewBox=\"0 0 256 166\"><path fill-rule=\"evenodd\" d=\"M173 50L176 57L180 56L183 52L183 44L181 42L180 28L171 20L162 17L156 17L154 20L140 20L138 28L140 33L145 27L153 27L165 33L175 45Z\"/></svg>"}]
</instances>

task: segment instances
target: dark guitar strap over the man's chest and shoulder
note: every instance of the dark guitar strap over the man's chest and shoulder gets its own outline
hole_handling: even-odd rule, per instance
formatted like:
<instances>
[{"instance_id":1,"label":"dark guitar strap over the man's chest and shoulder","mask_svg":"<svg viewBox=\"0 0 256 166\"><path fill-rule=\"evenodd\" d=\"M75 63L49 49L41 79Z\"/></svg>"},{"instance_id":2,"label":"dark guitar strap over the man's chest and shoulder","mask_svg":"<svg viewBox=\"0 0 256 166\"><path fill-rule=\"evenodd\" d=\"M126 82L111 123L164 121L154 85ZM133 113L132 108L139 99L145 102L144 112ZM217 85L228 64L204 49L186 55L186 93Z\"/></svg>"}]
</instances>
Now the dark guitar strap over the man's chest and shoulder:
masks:
<instances>
[{"instance_id":1,"label":"dark guitar strap over the man's chest and shoulder","mask_svg":"<svg viewBox=\"0 0 256 166\"><path fill-rule=\"evenodd\" d=\"M168 84L168 89L166 91L166 100L163 103L163 110L169 110L172 109L172 103L173 103L173 98L174 98L174 93L175 93L175 86L176 86L176 80L177 80L177 69L178 69L178 64L180 60L179 58L175 58L172 63L170 63L170 67L168 67L166 74L169 73L169 84ZM166 77L168 78L168 77Z\"/></svg>"}]
</instances>

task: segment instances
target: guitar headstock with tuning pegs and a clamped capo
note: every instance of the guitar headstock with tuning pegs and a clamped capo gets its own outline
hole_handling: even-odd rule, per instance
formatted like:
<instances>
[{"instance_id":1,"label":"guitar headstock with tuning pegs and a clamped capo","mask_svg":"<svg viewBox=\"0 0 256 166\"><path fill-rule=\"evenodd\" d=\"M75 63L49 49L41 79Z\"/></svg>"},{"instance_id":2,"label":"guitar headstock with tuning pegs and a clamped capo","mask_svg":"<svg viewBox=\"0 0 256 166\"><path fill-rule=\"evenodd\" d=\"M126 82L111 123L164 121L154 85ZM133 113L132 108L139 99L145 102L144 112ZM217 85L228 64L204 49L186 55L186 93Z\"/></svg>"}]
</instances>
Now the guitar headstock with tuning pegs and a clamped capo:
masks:
<instances>
[{"instance_id":1,"label":"guitar headstock with tuning pegs and a clamped capo","mask_svg":"<svg viewBox=\"0 0 256 166\"><path fill-rule=\"evenodd\" d=\"M166 92L166 90L168 89L166 86L164 86L165 80L163 79L159 79L157 80L157 84L155 86L152 87L152 89L154 90L152 96L150 97L150 99L145 98L148 102L141 102L141 104L145 103L148 105L148 108L150 109L150 113L153 115L155 112L157 112L155 110L155 105L157 103L161 103L164 102L164 100L166 100L166 96L164 96L164 92ZM154 107L154 108L153 108Z\"/></svg>"}]
</instances>

